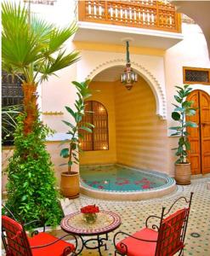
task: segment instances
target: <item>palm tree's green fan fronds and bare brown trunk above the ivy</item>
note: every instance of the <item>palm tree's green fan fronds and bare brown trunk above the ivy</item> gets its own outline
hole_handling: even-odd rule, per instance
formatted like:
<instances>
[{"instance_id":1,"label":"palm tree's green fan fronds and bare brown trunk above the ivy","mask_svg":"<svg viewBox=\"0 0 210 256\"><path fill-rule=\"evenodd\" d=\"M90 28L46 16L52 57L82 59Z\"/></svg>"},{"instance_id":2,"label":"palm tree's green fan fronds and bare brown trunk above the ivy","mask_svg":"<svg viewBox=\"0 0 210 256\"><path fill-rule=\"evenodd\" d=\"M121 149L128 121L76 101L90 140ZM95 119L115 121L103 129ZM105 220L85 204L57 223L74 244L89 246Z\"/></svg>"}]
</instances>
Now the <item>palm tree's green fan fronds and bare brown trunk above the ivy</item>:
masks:
<instances>
[{"instance_id":1,"label":"palm tree's green fan fronds and bare brown trunk above the ivy","mask_svg":"<svg viewBox=\"0 0 210 256\"><path fill-rule=\"evenodd\" d=\"M24 134L33 129L37 119L37 84L56 71L78 60L78 52L65 53L62 45L77 31L75 23L64 29L55 28L28 15L20 4L2 4L2 67L18 76L24 93ZM22 79L23 75L25 79Z\"/></svg>"}]
</instances>

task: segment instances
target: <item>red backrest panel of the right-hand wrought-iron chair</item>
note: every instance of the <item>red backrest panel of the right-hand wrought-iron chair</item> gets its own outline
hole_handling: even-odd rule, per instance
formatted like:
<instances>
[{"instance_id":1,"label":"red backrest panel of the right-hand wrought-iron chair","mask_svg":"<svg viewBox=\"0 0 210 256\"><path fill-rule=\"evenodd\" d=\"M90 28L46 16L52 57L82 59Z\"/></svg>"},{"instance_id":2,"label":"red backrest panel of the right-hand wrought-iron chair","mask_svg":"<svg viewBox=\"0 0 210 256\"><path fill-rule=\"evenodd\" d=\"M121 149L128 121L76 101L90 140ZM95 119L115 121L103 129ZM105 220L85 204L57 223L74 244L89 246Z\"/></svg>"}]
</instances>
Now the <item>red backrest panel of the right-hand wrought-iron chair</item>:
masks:
<instances>
[{"instance_id":1,"label":"red backrest panel of the right-hand wrought-iron chair","mask_svg":"<svg viewBox=\"0 0 210 256\"><path fill-rule=\"evenodd\" d=\"M189 212L189 208L184 208L162 220L158 231L156 256L171 256L184 248Z\"/></svg>"}]
</instances>

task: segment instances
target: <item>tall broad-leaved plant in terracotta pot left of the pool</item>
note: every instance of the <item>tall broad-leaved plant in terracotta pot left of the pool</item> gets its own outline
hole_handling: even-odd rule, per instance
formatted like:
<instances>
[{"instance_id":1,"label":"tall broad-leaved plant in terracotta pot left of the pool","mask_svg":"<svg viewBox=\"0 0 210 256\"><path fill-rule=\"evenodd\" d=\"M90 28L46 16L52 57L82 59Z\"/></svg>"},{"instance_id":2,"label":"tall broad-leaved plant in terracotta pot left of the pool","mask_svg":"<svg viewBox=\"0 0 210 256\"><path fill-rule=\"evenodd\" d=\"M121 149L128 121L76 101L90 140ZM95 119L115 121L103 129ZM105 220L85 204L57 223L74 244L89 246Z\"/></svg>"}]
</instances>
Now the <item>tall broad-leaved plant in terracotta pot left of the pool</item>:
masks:
<instances>
[{"instance_id":1,"label":"tall broad-leaved plant in terracotta pot left of the pool","mask_svg":"<svg viewBox=\"0 0 210 256\"><path fill-rule=\"evenodd\" d=\"M72 171L73 164L79 164L78 154L81 151L80 139L82 139L81 131L92 132L94 125L90 123L82 123L82 116L85 114L85 103L84 101L91 96L90 90L88 89L89 80L78 83L73 81L72 84L76 86L78 99L74 104L73 108L65 106L68 113L71 114L73 123L63 120L65 125L68 126L69 131L67 134L71 136L69 140L69 147L63 148L60 151L60 156L67 158L67 172L61 173L60 190L62 195L68 198L76 198L79 196L79 173Z\"/></svg>"}]
</instances>

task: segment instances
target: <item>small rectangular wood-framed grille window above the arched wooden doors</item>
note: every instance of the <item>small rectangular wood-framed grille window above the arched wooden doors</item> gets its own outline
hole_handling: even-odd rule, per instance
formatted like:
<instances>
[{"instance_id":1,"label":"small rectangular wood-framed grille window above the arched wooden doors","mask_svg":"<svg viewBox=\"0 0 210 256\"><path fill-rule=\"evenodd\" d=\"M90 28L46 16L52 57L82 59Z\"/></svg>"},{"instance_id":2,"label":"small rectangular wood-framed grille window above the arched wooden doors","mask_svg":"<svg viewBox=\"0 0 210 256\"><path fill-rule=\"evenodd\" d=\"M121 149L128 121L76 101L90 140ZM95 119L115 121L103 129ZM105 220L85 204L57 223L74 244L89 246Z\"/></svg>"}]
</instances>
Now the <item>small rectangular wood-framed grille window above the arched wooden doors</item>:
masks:
<instances>
[{"instance_id":1,"label":"small rectangular wood-framed grille window above the arched wooden doors","mask_svg":"<svg viewBox=\"0 0 210 256\"><path fill-rule=\"evenodd\" d=\"M183 67L184 84L210 84L210 69Z\"/></svg>"}]
</instances>

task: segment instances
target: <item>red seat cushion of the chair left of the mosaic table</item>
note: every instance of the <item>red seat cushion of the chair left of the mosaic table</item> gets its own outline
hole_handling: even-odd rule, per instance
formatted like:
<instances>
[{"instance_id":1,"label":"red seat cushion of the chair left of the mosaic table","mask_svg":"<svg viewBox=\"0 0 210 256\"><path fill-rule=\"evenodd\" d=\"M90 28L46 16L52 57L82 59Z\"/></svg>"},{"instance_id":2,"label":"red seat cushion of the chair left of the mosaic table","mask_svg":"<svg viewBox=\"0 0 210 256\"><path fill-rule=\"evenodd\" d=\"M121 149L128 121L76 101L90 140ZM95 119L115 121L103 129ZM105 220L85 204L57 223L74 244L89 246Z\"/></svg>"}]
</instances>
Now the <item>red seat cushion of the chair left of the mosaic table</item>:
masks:
<instances>
[{"instance_id":1,"label":"red seat cushion of the chair left of the mosaic table","mask_svg":"<svg viewBox=\"0 0 210 256\"><path fill-rule=\"evenodd\" d=\"M39 233L36 236L28 237L28 241L31 247L42 246L56 240L58 240L57 237L51 236L48 233L43 233L43 232ZM33 256L52 256L52 255L61 256L63 255L65 247L71 248L71 251L69 253L71 253L75 249L75 246L70 242L60 240L48 247L32 249L32 255Z\"/></svg>"}]
</instances>

